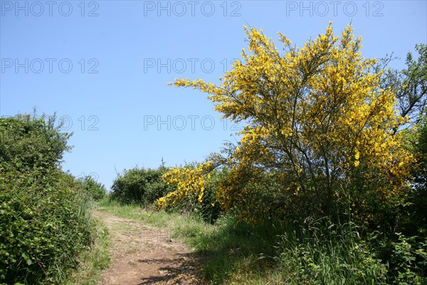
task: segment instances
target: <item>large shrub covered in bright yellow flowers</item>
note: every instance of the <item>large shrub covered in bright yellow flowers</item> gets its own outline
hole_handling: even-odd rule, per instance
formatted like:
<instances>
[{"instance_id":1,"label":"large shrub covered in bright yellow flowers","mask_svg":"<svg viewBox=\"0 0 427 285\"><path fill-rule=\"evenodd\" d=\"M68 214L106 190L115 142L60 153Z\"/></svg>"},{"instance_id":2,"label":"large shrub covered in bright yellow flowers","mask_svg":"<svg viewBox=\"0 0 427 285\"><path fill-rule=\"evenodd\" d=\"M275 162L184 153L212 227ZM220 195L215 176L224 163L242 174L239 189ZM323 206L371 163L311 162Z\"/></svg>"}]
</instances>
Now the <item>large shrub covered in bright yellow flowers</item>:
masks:
<instances>
[{"instance_id":1,"label":"large shrub covered in bright yellow flowers","mask_svg":"<svg viewBox=\"0 0 427 285\"><path fill-rule=\"evenodd\" d=\"M225 157L164 175L178 190L159 206L190 192L203 196L218 163L230 169L218 202L251 222L300 210L331 214L349 201L367 208L373 207L367 199L395 203L413 160L394 132L405 120L394 93L380 88L381 72L371 72L376 60L362 57L362 38L354 38L352 26L335 36L330 23L301 48L279 33L283 54L262 31L245 29L248 51L220 84L173 83L208 93L223 118L246 122L241 140L228 145Z\"/></svg>"}]
</instances>

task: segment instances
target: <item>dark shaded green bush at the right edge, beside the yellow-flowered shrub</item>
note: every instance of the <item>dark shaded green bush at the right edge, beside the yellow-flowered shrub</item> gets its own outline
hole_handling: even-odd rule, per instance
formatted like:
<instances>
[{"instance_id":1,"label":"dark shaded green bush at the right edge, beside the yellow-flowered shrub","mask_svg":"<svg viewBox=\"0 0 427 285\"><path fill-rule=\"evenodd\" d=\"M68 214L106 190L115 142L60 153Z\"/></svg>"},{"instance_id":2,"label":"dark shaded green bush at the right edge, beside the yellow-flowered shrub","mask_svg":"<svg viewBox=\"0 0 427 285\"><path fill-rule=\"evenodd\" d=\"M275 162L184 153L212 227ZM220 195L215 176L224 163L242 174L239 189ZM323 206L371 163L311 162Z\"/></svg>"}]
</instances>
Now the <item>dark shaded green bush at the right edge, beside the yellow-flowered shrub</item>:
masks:
<instances>
[{"instance_id":1,"label":"dark shaded green bush at the right edge, beside the yellow-flowered shrub","mask_svg":"<svg viewBox=\"0 0 427 285\"><path fill-rule=\"evenodd\" d=\"M391 284L427 284L427 118L421 117L415 132L407 134L416 157L411 187L399 207L396 233L378 244L381 259L389 266Z\"/></svg>"}]
</instances>

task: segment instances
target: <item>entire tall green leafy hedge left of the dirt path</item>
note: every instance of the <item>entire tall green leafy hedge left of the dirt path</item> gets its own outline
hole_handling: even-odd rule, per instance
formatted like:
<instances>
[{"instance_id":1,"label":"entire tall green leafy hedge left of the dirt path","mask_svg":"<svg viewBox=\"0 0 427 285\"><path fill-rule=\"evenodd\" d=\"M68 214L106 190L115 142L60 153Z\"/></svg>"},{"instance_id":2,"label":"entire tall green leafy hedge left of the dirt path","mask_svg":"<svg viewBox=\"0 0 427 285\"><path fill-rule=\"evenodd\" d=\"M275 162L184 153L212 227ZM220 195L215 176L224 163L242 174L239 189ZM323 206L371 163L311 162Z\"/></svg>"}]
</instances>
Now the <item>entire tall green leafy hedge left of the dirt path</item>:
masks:
<instances>
[{"instance_id":1,"label":"entire tall green leafy hedge left of the dirt path","mask_svg":"<svg viewBox=\"0 0 427 285\"><path fill-rule=\"evenodd\" d=\"M0 118L0 284L59 284L90 246L88 196L60 170L55 119Z\"/></svg>"}]
</instances>

